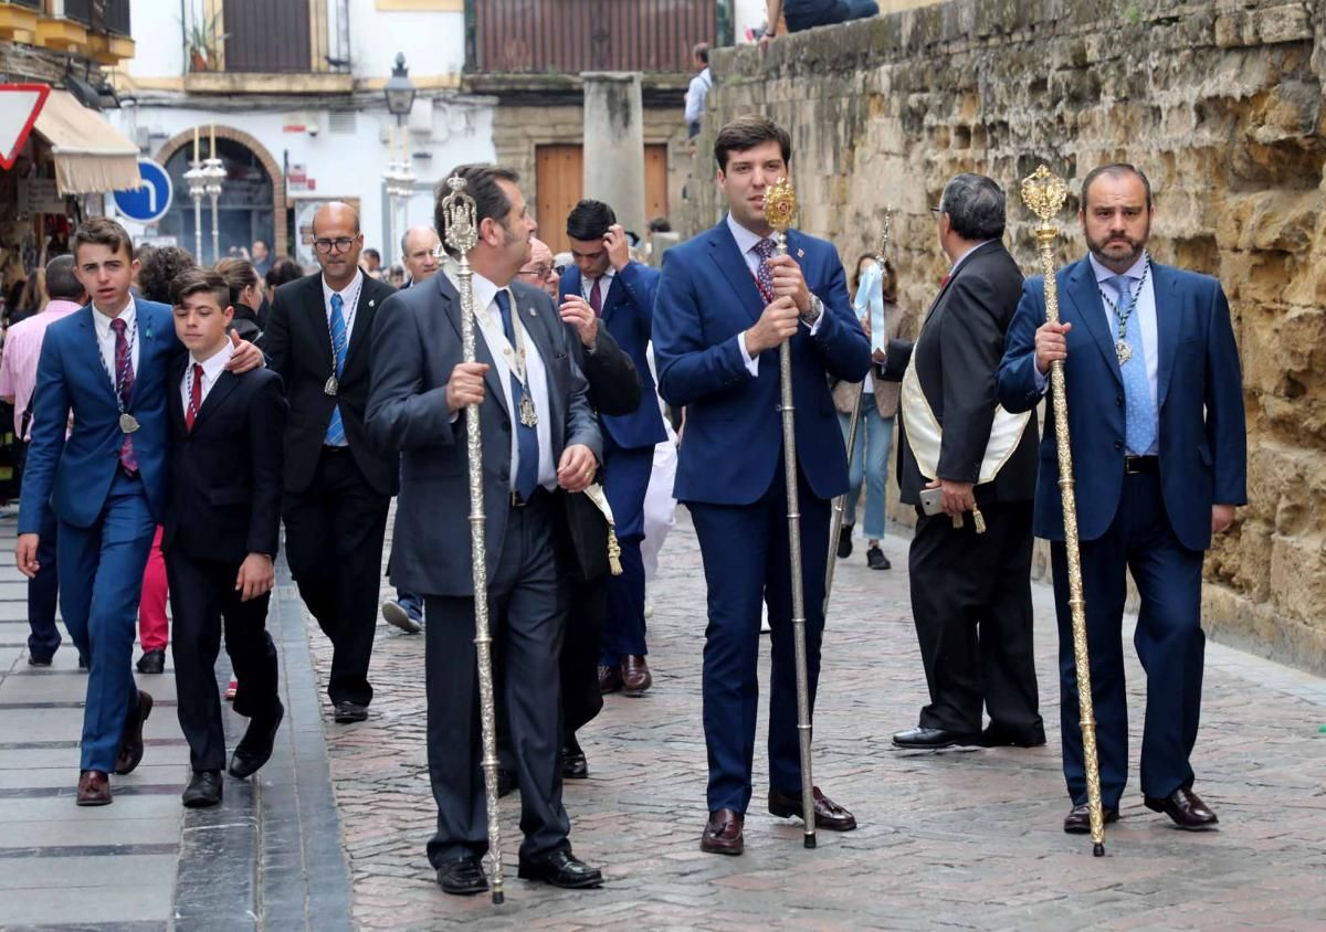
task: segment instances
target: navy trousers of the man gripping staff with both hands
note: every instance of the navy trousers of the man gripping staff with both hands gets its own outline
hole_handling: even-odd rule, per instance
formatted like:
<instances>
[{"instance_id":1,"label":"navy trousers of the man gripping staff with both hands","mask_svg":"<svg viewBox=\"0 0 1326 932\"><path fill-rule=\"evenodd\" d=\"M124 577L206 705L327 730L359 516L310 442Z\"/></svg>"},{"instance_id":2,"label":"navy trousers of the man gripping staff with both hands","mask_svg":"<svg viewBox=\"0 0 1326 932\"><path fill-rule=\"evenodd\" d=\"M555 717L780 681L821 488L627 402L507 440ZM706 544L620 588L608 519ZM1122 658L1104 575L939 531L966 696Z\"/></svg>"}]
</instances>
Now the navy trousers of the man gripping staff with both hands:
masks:
<instances>
[{"instance_id":1,"label":"navy trousers of the man gripping staff with both hands","mask_svg":"<svg viewBox=\"0 0 1326 932\"><path fill-rule=\"evenodd\" d=\"M788 559L788 493L782 465L752 505L687 502L704 559L709 624L704 632L704 742L709 811L745 813L751 802L756 711L760 697L760 602L769 609L769 785L801 791L797 679ZM826 498L800 483L801 559L806 609L806 673L814 713L823 636Z\"/></svg>"}]
</instances>

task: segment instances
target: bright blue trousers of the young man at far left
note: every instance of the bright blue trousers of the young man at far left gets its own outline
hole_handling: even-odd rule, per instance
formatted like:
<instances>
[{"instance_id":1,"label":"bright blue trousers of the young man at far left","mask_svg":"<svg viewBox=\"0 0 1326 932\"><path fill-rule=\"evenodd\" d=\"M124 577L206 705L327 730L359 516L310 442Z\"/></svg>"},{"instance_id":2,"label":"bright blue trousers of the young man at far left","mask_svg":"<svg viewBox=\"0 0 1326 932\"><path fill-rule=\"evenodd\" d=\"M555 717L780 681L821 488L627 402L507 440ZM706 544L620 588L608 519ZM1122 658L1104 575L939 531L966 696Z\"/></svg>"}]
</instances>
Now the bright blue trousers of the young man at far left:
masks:
<instances>
[{"instance_id":1,"label":"bright blue trousers of the young man at far left","mask_svg":"<svg viewBox=\"0 0 1326 932\"><path fill-rule=\"evenodd\" d=\"M90 528L60 522L60 609L88 658L80 770L114 769L129 711L138 708L134 631L155 533L142 480L122 471Z\"/></svg>"}]
</instances>

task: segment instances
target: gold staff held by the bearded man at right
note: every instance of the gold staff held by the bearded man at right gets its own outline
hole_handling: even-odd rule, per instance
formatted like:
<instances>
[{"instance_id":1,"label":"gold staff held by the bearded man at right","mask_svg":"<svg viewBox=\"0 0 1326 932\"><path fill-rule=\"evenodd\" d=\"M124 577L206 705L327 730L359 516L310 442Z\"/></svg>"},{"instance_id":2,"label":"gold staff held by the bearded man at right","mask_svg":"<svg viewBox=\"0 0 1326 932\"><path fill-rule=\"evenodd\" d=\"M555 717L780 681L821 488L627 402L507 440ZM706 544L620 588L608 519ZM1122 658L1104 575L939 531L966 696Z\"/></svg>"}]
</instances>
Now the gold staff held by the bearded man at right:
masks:
<instances>
[{"instance_id":1,"label":"gold staff held by the bearded man at right","mask_svg":"<svg viewBox=\"0 0 1326 932\"><path fill-rule=\"evenodd\" d=\"M1022 203L1041 219L1036 241L1041 248L1045 276L1045 320L1059 322L1058 282L1054 278L1054 239L1059 228L1050 223L1063 208L1067 187L1044 164L1022 179ZM1078 552L1077 492L1073 483L1073 448L1069 445L1069 399L1063 384L1063 359L1050 365L1050 402L1054 411L1054 445L1059 455L1059 492L1063 497L1063 550L1069 567L1069 612L1073 618L1073 662L1077 666L1078 711L1082 717L1082 754L1086 762L1086 801L1091 817L1091 852L1105 855L1105 818L1101 811L1101 766L1095 750L1095 715L1091 704L1091 660L1086 648L1086 598L1082 595L1082 554Z\"/></svg>"}]
</instances>

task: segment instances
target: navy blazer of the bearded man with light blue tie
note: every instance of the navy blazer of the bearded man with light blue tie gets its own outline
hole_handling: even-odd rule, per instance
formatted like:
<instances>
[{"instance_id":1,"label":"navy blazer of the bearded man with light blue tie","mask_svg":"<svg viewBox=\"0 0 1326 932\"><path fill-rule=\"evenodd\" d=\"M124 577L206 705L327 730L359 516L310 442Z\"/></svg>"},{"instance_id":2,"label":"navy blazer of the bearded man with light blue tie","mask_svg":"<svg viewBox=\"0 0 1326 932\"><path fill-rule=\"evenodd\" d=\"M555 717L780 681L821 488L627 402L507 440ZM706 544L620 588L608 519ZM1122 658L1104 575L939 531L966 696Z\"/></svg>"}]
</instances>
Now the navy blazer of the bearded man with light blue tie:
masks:
<instances>
[{"instance_id":1,"label":"navy blazer of the bearded man with light blue tie","mask_svg":"<svg viewBox=\"0 0 1326 932\"><path fill-rule=\"evenodd\" d=\"M1055 276L1059 318L1071 323L1063 366L1069 432L1077 481L1078 536L1102 537L1114 521L1123 488L1123 377L1114 334L1091 262L1081 259ZM1160 408L1160 485L1166 513L1191 550L1211 546L1211 506L1248 501L1248 431L1244 422L1238 346L1229 302L1215 278L1151 262L1156 296L1156 367ZM1028 278L1008 331L998 370L998 399L1026 411L1036 390L1036 329L1045 322L1045 285ZM1046 379L1049 384L1049 379ZM1036 536L1063 540L1054 411L1048 406L1036 489Z\"/></svg>"}]
</instances>

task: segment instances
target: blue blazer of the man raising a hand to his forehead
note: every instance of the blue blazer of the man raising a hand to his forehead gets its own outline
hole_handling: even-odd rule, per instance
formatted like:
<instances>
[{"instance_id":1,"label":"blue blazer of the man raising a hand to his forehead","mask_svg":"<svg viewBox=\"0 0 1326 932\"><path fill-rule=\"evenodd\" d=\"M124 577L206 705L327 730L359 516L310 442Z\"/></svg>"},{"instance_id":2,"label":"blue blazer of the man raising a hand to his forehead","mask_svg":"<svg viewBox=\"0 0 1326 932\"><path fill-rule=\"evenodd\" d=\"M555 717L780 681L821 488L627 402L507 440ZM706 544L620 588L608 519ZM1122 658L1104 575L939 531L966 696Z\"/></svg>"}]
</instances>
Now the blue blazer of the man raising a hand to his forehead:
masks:
<instances>
[{"instance_id":1,"label":"blue blazer of the man raising a hand to his forehead","mask_svg":"<svg viewBox=\"0 0 1326 932\"><path fill-rule=\"evenodd\" d=\"M650 343L650 329L654 320L654 294L659 286L659 272L639 262L627 262L613 276L613 284L603 297L602 321L613 334L617 345L626 350L640 375L644 403L634 412L621 418L601 415L603 430L618 447L638 449L652 447L667 440L663 430L663 414L654 403L654 375L650 373L646 349ZM562 276L558 288L561 297L581 294L581 272L572 266Z\"/></svg>"}]
</instances>

